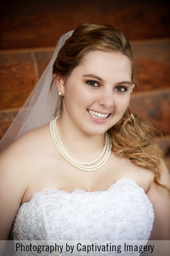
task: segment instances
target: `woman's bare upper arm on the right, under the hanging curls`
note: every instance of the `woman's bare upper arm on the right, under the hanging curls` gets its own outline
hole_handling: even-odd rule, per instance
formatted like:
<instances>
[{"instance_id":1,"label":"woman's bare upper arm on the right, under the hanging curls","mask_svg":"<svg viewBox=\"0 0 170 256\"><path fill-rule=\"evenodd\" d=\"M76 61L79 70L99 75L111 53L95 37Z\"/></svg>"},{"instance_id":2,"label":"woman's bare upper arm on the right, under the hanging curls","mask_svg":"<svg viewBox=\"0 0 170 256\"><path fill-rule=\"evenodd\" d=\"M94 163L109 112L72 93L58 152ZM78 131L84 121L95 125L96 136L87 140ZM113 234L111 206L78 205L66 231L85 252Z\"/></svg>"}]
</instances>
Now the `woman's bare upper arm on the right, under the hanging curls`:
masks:
<instances>
[{"instance_id":1,"label":"woman's bare upper arm on the right, under the hanging curls","mask_svg":"<svg viewBox=\"0 0 170 256\"><path fill-rule=\"evenodd\" d=\"M170 187L170 174L162 162L162 175L160 183ZM170 193L151 183L150 188L146 192L150 197L154 209L154 224L151 231L150 240L170 240Z\"/></svg>"}]
</instances>

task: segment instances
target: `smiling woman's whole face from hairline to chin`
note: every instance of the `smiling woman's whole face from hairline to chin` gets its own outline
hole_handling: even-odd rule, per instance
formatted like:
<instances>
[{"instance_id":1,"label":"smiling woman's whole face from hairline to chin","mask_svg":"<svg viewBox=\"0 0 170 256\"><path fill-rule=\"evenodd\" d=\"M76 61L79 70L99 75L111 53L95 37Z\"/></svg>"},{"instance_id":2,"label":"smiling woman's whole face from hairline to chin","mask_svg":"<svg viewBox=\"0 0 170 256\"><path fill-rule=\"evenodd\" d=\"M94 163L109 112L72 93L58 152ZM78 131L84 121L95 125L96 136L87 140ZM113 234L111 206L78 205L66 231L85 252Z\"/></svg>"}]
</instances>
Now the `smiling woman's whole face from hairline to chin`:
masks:
<instances>
[{"instance_id":1,"label":"smiling woman's whole face from hairline to chin","mask_svg":"<svg viewBox=\"0 0 170 256\"><path fill-rule=\"evenodd\" d=\"M85 133L102 134L123 116L130 89L131 63L127 56L89 52L62 89L62 115Z\"/></svg>"}]
</instances>

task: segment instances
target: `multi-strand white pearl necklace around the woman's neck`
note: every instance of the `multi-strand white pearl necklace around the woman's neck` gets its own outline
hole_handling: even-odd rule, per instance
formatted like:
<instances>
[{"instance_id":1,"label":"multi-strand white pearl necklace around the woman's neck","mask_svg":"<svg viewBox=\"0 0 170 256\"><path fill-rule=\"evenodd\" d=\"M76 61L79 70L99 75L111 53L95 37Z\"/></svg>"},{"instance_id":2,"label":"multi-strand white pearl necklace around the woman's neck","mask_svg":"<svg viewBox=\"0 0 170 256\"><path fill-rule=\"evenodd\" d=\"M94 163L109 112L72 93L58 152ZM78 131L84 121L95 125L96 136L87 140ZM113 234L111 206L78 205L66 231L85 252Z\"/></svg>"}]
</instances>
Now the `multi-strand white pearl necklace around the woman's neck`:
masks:
<instances>
[{"instance_id":1,"label":"multi-strand white pearl necklace around the woman's neck","mask_svg":"<svg viewBox=\"0 0 170 256\"><path fill-rule=\"evenodd\" d=\"M61 138L60 138L58 130L57 130L57 125L56 125L56 121L57 121L58 117L59 116L57 116L54 120L51 121L50 133L51 133L53 142L55 144L55 147L57 148L58 152L62 155L62 157L64 159L66 159L66 161L71 163L74 167L78 168L79 170L85 171L85 172L93 172L93 171L96 171L96 170L100 169L101 167L103 167L105 165L105 163L107 163L107 161L111 155L111 149L112 149L111 136L107 132L105 132L105 144L104 144L103 150L102 150L101 154L99 155L99 157L97 157L94 161L89 162L89 163L78 162L75 159L73 159L69 155L69 153L67 153L65 147L62 144ZM99 160L100 160L100 162L98 162ZM96 165L92 165L93 163L96 163L96 162L98 162ZM89 165L92 165L92 166L89 166Z\"/></svg>"}]
</instances>

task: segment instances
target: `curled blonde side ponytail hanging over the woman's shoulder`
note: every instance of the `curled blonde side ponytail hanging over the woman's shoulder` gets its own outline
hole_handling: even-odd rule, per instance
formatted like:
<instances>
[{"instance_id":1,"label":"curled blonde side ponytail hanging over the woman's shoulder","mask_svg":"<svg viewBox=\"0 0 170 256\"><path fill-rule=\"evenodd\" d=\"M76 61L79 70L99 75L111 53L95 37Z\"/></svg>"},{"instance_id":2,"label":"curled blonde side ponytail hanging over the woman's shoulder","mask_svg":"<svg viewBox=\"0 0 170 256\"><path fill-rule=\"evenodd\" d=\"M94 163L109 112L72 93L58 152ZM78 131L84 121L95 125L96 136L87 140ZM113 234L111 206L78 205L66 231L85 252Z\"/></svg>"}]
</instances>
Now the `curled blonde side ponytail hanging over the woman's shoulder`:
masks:
<instances>
[{"instance_id":1,"label":"curled blonde side ponytail hanging over the woman's shoulder","mask_svg":"<svg viewBox=\"0 0 170 256\"><path fill-rule=\"evenodd\" d=\"M127 108L123 117L109 129L112 136L112 151L124 154L136 165L154 172L155 184L170 192L170 188L159 183L161 178L162 152L155 143L155 133L148 120L131 113Z\"/></svg>"}]
</instances>

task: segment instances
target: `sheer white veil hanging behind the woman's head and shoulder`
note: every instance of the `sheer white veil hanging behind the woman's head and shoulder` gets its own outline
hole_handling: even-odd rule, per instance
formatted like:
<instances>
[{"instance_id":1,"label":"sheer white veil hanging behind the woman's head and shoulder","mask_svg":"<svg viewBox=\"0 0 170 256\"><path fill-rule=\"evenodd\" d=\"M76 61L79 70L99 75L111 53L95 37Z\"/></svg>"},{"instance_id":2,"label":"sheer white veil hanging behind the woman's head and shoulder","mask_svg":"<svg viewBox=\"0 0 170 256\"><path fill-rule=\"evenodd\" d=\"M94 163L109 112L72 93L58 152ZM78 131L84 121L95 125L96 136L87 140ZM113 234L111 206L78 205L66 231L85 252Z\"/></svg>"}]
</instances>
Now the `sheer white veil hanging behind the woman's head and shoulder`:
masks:
<instances>
[{"instance_id":1,"label":"sheer white veil hanging behind the woman's head and shoulder","mask_svg":"<svg viewBox=\"0 0 170 256\"><path fill-rule=\"evenodd\" d=\"M49 93L50 84L53 80L53 64L56 59L56 52L63 46L67 36L72 35L73 31L63 34L59 39L47 68L1 139L0 151L4 150L23 133L47 124L54 118L55 108L60 97L56 86Z\"/></svg>"}]
</instances>

